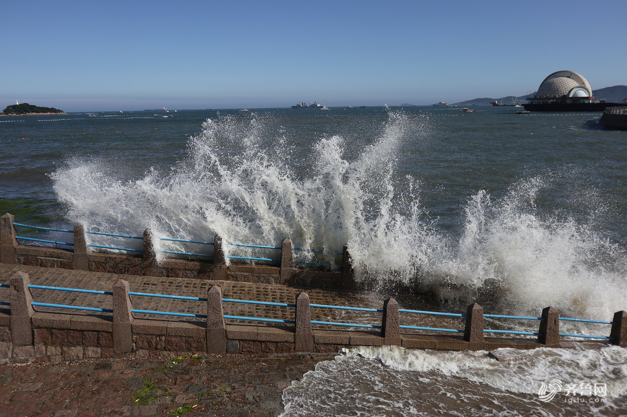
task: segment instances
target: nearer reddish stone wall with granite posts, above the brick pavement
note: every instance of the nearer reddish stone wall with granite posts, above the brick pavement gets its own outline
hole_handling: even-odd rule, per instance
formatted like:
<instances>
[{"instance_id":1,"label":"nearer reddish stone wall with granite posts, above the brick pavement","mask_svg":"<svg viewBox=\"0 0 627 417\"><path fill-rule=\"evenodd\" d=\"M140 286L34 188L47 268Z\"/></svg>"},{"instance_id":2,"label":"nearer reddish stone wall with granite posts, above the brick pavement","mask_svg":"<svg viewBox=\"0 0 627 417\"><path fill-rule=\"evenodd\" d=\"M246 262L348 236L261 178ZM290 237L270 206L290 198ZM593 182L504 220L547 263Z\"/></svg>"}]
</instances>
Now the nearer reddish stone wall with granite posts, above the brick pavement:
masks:
<instances>
[{"instance_id":1,"label":"nearer reddish stone wall with granite posts, above the brick pavement","mask_svg":"<svg viewBox=\"0 0 627 417\"><path fill-rule=\"evenodd\" d=\"M487 350L498 348L534 349L566 347L572 342L560 341L559 316L552 307L542 311L542 335L537 341L524 338L485 337L483 309L471 304L466 311L463 336L416 334L399 328L399 306L394 299L384 302L379 312L381 330L312 329L312 307L309 296L300 292L295 297L291 314L294 324L268 326L240 319L241 324L226 323L223 292L213 285L206 291L206 314L202 321L138 319L132 313L129 283L119 280L111 293L94 297L112 297L103 305L111 315L80 311L34 311L29 275L14 272L9 284L9 308L0 310L0 360L11 362L56 362L88 358L175 357L196 354L275 354L334 353L356 346L402 346L404 348L442 350ZM197 281L198 282L198 281ZM227 285L223 281L222 285ZM228 284L231 285L231 284ZM8 288L6 287L8 286ZM279 286L275 286L279 287ZM55 287L58 288L58 287ZM38 289L37 291L42 291ZM48 292L63 292L46 289ZM68 294L68 292L66 292ZM69 294L76 294L69 292ZM85 294L85 293L83 293ZM91 297L92 294L85 294ZM71 296L74 297L74 296ZM67 299L66 299L67 300ZM157 299L158 300L158 299ZM51 300L53 301L53 300ZM64 302L64 301L62 301ZM65 301L70 302L70 300ZM40 307L55 307L55 302ZM228 303L227 303L228 304ZM6 305L6 304L5 304ZM112 306L106 310L105 307ZM135 308L142 308L142 305ZM94 308L94 307L88 307ZM145 308L145 307L144 307ZM75 312L78 311L78 312ZM151 310L155 311L155 310ZM139 310L142 313L144 310ZM176 312L173 312L176 314ZM228 312L228 314L238 314ZM230 316L227 316L229 318ZM233 318L233 317L231 317ZM614 314L611 336L614 344L627 347L627 312ZM544 324L545 323L545 324ZM354 328L354 327L353 327Z\"/></svg>"}]
</instances>

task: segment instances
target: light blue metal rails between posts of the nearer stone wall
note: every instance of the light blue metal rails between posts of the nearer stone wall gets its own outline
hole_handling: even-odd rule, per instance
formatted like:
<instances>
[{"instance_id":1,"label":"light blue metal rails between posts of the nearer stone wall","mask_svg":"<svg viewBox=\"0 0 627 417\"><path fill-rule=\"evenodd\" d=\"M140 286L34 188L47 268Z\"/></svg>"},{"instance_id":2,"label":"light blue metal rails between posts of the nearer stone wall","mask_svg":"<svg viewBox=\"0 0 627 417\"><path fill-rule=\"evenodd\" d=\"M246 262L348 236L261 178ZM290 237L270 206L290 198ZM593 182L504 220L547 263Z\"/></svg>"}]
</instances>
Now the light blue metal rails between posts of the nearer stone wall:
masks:
<instances>
[{"instance_id":1,"label":"light blue metal rails between posts of the nearer stone wall","mask_svg":"<svg viewBox=\"0 0 627 417\"><path fill-rule=\"evenodd\" d=\"M8 284L0 284L0 288L9 288ZM43 290L52 290L52 291L67 291L67 292L82 292L86 294L99 294L105 296L112 296L113 292L111 291L99 291L99 290L89 290L89 289L78 289L78 288L66 288L66 287L51 287L51 286L38 286L29 284L28 288L31 289L43 289ZM208 299L203 297L187 297L187 296L172 296L169 294L153 294L150 292L134 292L129 291L129 296L140 296L140 297L157 297L157 298L169 298L169 299L179 299L179 300L187 300L187 301L208 301ZM238 300L238 299L230 299L230 298L222 298L223 302L236 302L242 304L257 304L261 306L278 306L278 307L292 307L295 308L296 304L289 304L285 302L268 302L268 301L253 301L253 300ZM95 311L95 312L108 312L112 313L111 309L102 309L97 307L83 307L83 306L68 306L65 304L51 304L46 302L31 302L32 306L41 306L41 307L55 307L61 309L75 309L75 310L83 310L83 311ZM0 302L0 306L11 306L10 302ZM350 311L366 311L366 312L379 312L382 313L384 310L382 309L370 309L364 307L348 307L348 306L330 306L327 304L309 304L310 307L314 308L327 308L327 309L339 309L339 310L350 310ZM152 310L139 310L132 309L131 312L142 313L142 314L161 314L164 316L178 316L178 317L197 317L197 318L207 318L204 314L191 314L191 313L179 313L179 312L167 312L167 311L152 311ZM449 317L468 317L467 314L458 314L458 313L446 313L446 312L436 312L436 311L421 311L421 310L408 310L408 309L399 309L399 312L409 312L414 314L430 314L434 316L449 316ZM502 314L483 314L484 317L496 317L496 318L505 318L505 319L527 319L527 320L542 320L542 317L526 317L526 316L505 316ZM235 320L251 320L251 321L263 321L263 322L277 322L277 323L285 323L285 324L294 324L292 320L281 320L281 319L266 319L263 317L245 317L245 316L224 316L225 319L235 319ZM560 319L564 319L566 321L579 321L579 322L593 322L598 324L616 324L613 321L600 321L600 320L587 320L587 319L571 319L569 317L561 317ZM330 326L344 326L344 327L359 327L359 328L368 328L368 329L381 329L381 326L375 326L372 324L357 324L357 323L342 323L342 322L330 322L330 321L316 321L312 320L312 324L323 324ZM416 330L425 330L425 331L440 331L440 332L454 332L454 333L466 333L464 330L458 329L442 329L439 327L423 327L423 326L399 326L401 329L416 329ZM493 329L483 329L484 333L502 333L502 334L522 334L527 336L541 336L540 333L537 332L525 332L525 331L511 331L511 330L493 330ZM614 337L611 336L594 336L589 334L572 334L572 333L559 333L560 336L566 337L581 337L584 339L603 339L603 340L613 340Z\"/></svg>"}]
</instances>

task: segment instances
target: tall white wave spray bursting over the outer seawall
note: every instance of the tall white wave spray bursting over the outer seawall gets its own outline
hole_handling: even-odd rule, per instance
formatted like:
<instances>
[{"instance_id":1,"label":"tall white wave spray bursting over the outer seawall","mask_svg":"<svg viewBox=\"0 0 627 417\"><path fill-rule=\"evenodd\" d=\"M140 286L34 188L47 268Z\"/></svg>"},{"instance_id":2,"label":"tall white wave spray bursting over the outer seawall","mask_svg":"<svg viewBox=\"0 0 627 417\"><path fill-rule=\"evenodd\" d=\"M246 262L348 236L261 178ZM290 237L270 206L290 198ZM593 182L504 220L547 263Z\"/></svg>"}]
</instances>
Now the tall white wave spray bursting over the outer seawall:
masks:
<instances>
[{"instance_id":1,"label":"tall white wave spray bursting over the outer seawall","mask_svg":"<svg viewBox=\"0 0 627 417\"><path fill-rule=\"evenodd\" d=\"M489 312L536 316L553 306L564 316L609 320L627 307L624 250L598 235L592 221L535 207L550 192L550 175L524 178L498 200L477 190L463 232L441 234L421 205L419 182L395 176L399 148L428 139L427 126L425 118L389 112L357 157L345 155L356 145L335 135L320 137L299 159L272 118L219 116L203 123L169 172L155 167L127 180L110 161L71 160L51 177L68 220L90 230L136 235L150 227L158 237L211 241L219 234L226 242L277 246L290 237L296 247L327 252L295 252L298 259L332 265L341 258L328 252L347 244L358 279L374 277L381 287L403 281L462 305L490 289ZM88 237L141 247L140 240ZM211 254L206 245L155 240L155 247ZM226 252L278 259L267 250Z\"/></svg>"}]
</instances>

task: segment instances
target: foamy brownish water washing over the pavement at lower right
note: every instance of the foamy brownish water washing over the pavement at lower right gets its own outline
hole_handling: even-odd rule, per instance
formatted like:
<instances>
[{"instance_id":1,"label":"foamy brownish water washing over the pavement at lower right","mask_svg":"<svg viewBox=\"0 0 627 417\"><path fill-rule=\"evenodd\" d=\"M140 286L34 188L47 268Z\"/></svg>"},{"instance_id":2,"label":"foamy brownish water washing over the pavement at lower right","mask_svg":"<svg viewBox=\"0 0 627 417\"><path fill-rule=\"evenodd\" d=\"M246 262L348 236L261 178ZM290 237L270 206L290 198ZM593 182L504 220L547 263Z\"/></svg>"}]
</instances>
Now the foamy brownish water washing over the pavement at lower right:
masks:
<instances>
[{"instance_id":1,"label":"foamy brownish water washing over the pavement at lower right","mask_svg":"<svg viewBox=\"0 0 627 417\"><path fill-rule=\"evenodd\" d=\"M513 350L513 349L510 349ZM627 349L534 349L500 363L487 352L398 347L344 349L283 391L288 416L572 416L622 415L627 406ZM540 401L540 385L606 384L606 396ZM569 404L569 398L606 403Z\"/></svg>"}]
</instances>

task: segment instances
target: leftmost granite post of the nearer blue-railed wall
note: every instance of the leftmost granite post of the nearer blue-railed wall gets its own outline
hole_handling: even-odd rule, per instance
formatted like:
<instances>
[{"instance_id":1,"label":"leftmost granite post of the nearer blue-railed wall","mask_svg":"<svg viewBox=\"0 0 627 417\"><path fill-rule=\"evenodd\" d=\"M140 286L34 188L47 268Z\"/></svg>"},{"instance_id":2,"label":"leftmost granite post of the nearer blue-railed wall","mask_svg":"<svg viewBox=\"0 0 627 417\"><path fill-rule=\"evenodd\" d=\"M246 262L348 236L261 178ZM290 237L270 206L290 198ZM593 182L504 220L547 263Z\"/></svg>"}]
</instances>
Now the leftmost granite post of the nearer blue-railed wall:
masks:
<instances>
[{"instance_id":1,"label":"leftmost granite post of the nearer blue-railed wall","mask_svg":"<svg viewBox=\"0 0 627 417\"><path fill-rule=\"evenodd\" d=\"M33 295L28 288L30 279L24 272L16 272L11 277L9 289L11 294L11 316L9 326L11 327L11 341L19 346L33 344L33 326L31 316L33 316Z\"/></svg>"}]
</instances>

